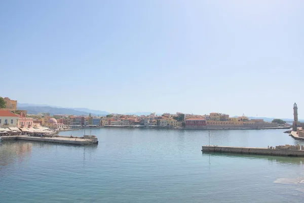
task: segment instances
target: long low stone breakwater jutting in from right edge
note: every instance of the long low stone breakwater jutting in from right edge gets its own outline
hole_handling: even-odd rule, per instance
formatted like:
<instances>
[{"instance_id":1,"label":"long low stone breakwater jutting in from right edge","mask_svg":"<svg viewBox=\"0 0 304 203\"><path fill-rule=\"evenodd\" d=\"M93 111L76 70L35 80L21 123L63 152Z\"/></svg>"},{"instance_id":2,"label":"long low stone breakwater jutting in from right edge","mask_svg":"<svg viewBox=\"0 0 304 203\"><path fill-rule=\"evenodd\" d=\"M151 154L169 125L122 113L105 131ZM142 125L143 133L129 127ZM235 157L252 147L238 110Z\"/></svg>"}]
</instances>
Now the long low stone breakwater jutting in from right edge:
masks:
<instances>
[{"instance_id":1,"label":"long low stone breakwater jutting in from right edge","mask_svg":"<svg viewBox=\"0 0 304 203\"><path fill-rule=\"evenodd\" d=\"M271 156L296 156L304 157L304 150L291 150L274 148L257 148L257 147L227 147L227 146L202 146L202 152L222 152L222 153L238 153L238 154L257 154Z\"/></svg>"}]
</instances>

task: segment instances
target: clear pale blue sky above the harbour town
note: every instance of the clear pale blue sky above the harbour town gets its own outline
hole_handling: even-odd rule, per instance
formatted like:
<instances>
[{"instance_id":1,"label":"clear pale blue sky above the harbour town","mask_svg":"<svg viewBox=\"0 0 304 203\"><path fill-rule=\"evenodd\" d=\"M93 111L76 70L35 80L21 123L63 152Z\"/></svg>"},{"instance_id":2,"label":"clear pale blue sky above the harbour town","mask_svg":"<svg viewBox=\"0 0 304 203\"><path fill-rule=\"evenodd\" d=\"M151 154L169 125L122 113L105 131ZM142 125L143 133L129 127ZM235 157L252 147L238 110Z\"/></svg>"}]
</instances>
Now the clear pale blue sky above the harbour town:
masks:
<instances>
[{"instance_id":1,"label":"clear pale blue sky above the harbour town","mask_svg":"<svg viewBox=\"0 0 304 203\"><path fill-rule=\"evenodd\" d=\"M304 118L304 1L0 1L1 96Z\"/></svg>"}]
</instances>

